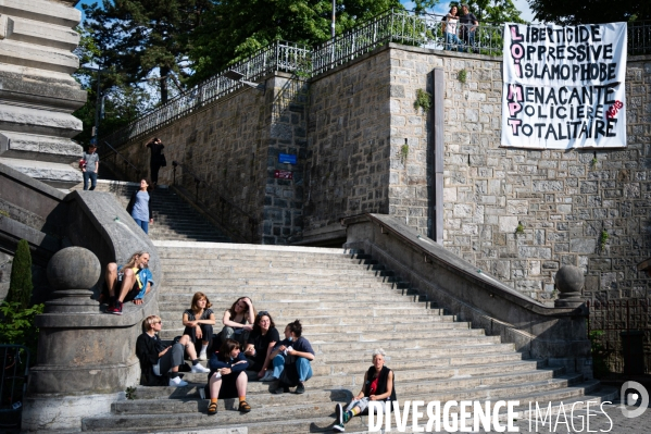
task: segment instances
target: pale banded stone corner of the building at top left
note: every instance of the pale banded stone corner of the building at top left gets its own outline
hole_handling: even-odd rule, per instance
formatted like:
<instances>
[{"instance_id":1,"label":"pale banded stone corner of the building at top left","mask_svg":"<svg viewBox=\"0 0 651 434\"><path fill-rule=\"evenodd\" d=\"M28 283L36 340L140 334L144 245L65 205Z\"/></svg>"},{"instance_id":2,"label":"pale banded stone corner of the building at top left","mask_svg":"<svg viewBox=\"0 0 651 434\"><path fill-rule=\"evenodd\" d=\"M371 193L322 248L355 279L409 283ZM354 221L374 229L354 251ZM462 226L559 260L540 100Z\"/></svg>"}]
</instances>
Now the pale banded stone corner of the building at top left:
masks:
<instances>
[{"instance_id":1,"label":"pale banded stone corner of the building at top left","mask_svg":"<svg viewBox=\"0 0 651 434\"><path fill-rule=\"evenodd\" d=\"M86 91L71 76L78 0L0 1L0 163L55 187L82 179L71 166L82 147L72 112Z\"/></svg>"}]
</instances>

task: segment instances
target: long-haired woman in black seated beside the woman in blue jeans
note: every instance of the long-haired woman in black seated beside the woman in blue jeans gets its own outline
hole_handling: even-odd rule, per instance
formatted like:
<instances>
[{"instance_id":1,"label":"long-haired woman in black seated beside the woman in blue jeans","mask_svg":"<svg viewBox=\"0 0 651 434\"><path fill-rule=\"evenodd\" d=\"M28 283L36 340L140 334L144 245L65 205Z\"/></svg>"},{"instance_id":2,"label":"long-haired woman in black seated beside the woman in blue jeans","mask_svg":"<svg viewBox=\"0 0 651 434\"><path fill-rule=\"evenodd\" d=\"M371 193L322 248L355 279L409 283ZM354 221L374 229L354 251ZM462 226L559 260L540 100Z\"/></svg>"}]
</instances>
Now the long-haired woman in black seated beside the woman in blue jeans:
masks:
<instances>
[{"instance_id":1,"label":"long-haired woman in black seated beside the woman in blue jeans","mask_svg":"<svg viewBox=\"0 0 651 434\"><path fill-rule=\"evenodd\" d=\"M266 310L258 312L253 332L249 335L245 349L245 355L249 359L249 371L254 371L258 380L272 380L271 356L278 340L280 340L280 335L272 315Z\"/></svg>"}]
</instances>

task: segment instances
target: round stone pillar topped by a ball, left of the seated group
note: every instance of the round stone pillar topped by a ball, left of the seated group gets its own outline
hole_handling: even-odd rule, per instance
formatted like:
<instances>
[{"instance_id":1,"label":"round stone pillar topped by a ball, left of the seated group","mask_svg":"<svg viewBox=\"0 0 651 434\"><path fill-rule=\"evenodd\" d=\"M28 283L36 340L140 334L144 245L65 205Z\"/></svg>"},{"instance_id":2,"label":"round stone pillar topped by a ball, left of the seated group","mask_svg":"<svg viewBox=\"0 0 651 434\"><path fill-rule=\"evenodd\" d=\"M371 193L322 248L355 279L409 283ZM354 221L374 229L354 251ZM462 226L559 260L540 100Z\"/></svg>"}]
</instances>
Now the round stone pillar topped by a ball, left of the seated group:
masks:
<instances>
[{"instance_id":1,"label":"round stone pillar topped by a ball, left of the seated group","mask_svg":"<svg viewBox=\"0 0 651 434\"><path fill-rule=\"evenodd\" d=\"M83 247L62 249L48 263L53 292L36 318L38 354L24 402L25 432L79 430L82 419L109 414L120 393L138 384L132 343L141 320L125 326L124 318L100 312L89 289L100 275L99 259Z\"/></svg>"}]
</instances>

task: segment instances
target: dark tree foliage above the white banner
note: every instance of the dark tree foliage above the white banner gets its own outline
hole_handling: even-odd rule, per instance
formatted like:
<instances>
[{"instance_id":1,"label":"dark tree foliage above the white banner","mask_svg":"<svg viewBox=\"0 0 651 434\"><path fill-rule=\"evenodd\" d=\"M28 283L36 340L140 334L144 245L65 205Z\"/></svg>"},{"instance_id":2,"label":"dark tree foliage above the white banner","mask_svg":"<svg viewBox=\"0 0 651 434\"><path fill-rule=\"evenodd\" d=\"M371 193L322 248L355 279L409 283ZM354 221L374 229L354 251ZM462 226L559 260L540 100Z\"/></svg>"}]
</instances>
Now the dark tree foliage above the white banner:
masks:
<instances>
[{"instance_id":1,"label":"dark tree foliage above the white banner","mask_svg":"<svg viewBox=\"0 0 651 434\"><path fill-rule=\"evenodd\" d=\"M651 1L614 4L609 0L527 0L537 21L560 25L651 20Z\"/></svg>"}]
</instances>

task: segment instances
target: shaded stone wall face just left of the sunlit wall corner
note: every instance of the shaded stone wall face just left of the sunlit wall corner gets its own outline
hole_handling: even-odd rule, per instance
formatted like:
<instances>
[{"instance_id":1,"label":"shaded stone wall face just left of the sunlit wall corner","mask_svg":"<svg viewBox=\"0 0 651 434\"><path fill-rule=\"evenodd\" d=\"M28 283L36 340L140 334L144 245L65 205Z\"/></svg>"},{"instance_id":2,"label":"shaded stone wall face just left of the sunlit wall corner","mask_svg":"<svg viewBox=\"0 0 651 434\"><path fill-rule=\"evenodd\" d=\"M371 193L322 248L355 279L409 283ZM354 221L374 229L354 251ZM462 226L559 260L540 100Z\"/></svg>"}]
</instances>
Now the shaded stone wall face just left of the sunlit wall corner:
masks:
<instances>
[{"instance_id":1,"label":"shaded stone wall face just left of the sunlit wall corner","mask_svg":"<svg viewBox=\"0 0 651 434\"><path fill-rule=\"evenodd\" d=\"M389 213L391 58L372 52L310 84L304 230Z\"/></svg>"}]
</instances>

